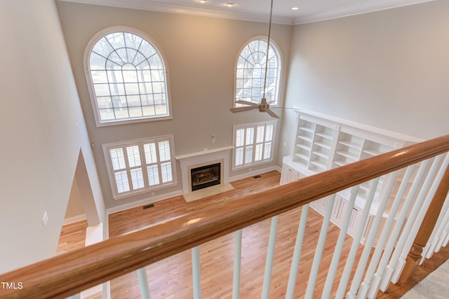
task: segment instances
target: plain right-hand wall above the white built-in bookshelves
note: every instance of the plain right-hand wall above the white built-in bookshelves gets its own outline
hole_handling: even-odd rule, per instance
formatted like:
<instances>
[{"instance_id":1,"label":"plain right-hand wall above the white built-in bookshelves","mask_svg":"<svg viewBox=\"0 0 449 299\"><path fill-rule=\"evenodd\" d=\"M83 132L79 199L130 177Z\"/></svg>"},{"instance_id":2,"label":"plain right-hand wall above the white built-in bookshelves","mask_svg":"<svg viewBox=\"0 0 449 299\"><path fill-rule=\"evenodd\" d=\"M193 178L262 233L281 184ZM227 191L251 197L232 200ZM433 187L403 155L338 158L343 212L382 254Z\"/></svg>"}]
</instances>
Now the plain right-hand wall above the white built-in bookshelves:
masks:
<instances>
[{"instance_id":1,"label":"plain right-hand wall above the white built-in bookshelves","mask_svg":"<svg viewBox=\"0 0 449 299\"><path fill-rule=\"evenodd\" d=\"M446 0L296 25L286 106L423 139L448 134L448 28ZM292 123L287 113L287 144Z\"/></svg>"}]
</instances>

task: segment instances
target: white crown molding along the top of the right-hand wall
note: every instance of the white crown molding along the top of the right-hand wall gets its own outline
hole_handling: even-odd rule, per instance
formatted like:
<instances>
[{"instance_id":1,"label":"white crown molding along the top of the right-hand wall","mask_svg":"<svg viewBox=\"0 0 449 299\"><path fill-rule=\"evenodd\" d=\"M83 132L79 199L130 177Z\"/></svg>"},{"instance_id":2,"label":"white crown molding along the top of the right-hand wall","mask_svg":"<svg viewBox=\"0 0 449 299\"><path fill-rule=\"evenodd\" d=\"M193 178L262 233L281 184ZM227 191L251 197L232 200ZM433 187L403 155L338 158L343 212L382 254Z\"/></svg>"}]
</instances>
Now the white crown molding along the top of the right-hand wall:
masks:
<instances>
[{"instance_id":1,"label":"white crown molding along the top of the right-hand wall","mask_svg":"<svg viewBox=\"0 0 449 299\"><path fill-rule=\"evenodd\" d=\"M325 20L332 20L337 18L349 17L351 15L361 15L363 13L373 13L375 11L384 11L386 9L398 8L402 6L409 6L413 4L422 4L435 0L372 0L364 2L363 4L355 4L345 6L342 8L324 11L315 15L307 15L305 17L295 18L293 25L300 25L311 22L319 22Z\"/></svg>"}]
</instances>

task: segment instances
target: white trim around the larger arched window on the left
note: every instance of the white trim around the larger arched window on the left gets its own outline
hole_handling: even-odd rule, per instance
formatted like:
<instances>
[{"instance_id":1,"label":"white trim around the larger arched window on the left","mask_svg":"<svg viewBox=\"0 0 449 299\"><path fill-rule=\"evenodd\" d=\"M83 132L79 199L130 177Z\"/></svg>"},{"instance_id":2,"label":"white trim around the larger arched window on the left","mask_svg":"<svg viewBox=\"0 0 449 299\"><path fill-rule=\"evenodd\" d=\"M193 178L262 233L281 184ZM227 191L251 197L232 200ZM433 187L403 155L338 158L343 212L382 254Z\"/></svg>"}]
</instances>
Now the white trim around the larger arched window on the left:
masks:
<instances>
[{"instance_id":1,"label":"white trim around the larger arched window on the left","mask_svg":"<svg viewBox=\"0 0 449 299\"><path fill-rule=\"evenodd\" d=\"M163 62L163 66L165 69L166 74L166 92L167 92L167 104L168 104L168 116L155 116L155 117L142 117L142 118L132 118L132 119L123 119L123 120L101 120L100 118L100 111L98 110L98 104L97 104L97 98L95 97L95 90L93 87L93 81L91 78L91 69L89 65L89 58L91 57L91 53L93 50L93 47L95 44L102 39L107 34L113 33L113 32L128 32L130 34L136 34L138 36L141 36L143 39L146 39L149 43L152 44L152 46L156 49L156 51L159 53L161 60ZM173 112L172 112L172 105L171 105L171 95L170 95L170 76L168 71L168 64L165 58L165 55L163 54L163 51L161 50L161 47L145 32L142 32L138 29L135 29L133 27L126 27L126 26L114 26L114 27L108 27L105 29L100 30L100 32L97 32L91 40L88 42L86 49L84 50L83 55L83 65L84 65L84 76L86 76L86 84L88 88L89 97L91 99L92 109L93 109L93 116L95 118L95 124L97 127L105 127L109 125L125 125L128 123L142 123L147 121L157 121L157 120L168 120L173 119Z\"/></svg>"}]
</instances>

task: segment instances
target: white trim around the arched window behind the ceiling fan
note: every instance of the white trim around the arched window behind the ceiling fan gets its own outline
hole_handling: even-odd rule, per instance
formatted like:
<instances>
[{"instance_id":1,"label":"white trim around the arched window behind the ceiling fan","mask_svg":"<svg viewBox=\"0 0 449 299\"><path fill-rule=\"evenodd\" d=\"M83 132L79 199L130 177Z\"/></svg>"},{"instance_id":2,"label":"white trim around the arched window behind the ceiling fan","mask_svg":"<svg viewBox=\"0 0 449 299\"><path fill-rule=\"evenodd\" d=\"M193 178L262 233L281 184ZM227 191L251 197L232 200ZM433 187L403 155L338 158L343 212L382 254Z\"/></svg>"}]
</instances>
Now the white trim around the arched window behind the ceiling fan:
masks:
<instances>
[{"instance_id":1,"label":"white trim around the arched window behind the ceiling fan","mask_svg":"<svg viewBox=\"0 0 449 299\"><path fill-rule=\"evenodd\" d=\"M237 106L236 104L236 90L237 90L237 65L239 64L239 57L243 51L244 48L246 48L246 46L248 46L249 43L253 42L253 41L259 41L259 40L263 40L263 41L268 41L268 37L267 36L254 36L253 38L249 39L248 41L246 41L246 43L243 44L243 46L241 46L241 48L239 49L239 52L237 53L236 56L236 60L234 63L234 97L232 99L232 107L236 108L236 107L240 107L240 106L245 106L245 105L241 105L239 104L239 106ZM280 106L280 102L281 102L281 79L282 79L282 66L283 66L283 57L282 57L282 53L281 50L279 48L278 43L276 43L276 41L273 40L272 37L270 37L270 47L274 48L274 52L276 53L277 57L278 57L278 62L279 62L279 67L278 67L278 77L277 77L277 88L276 88L276 104L270 104L270 106ZM262 99L262 97L260 97L260 99Z\"/></svg>"}]
</instances>

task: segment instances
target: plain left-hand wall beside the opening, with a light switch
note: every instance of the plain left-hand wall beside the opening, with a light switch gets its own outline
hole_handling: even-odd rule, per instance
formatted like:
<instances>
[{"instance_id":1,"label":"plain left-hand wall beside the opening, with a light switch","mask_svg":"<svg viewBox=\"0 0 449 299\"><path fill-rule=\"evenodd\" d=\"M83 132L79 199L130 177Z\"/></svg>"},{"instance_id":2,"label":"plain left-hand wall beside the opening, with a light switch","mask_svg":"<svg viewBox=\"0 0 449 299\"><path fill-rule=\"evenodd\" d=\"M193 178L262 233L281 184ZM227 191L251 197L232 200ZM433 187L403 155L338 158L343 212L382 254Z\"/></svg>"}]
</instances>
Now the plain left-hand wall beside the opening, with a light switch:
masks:
<instances>
[{"instance_id":1,"label":"plain left-hand wall beside the opening, with a light switch","mask_svg":"<svg viewBox=\"0 0 449 299\"><path fill-rule=\"evenodd\" d=\"M3 273L54 255L80 149L105 208L54 1L3 0L0 27Z\"/></svg>"}]
</instances>

